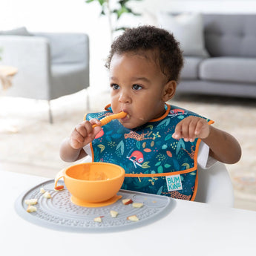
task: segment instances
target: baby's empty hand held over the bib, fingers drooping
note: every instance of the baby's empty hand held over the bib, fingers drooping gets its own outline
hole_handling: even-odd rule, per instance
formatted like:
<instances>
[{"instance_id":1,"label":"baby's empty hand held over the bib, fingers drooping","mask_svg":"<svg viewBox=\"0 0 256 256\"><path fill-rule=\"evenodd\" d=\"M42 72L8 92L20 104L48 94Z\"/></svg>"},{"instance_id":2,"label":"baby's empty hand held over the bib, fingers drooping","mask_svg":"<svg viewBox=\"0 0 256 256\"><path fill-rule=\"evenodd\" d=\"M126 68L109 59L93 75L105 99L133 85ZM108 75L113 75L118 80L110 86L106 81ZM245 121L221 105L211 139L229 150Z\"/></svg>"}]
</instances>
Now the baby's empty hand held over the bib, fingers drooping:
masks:
<instances>
[{"instance_id":1,"label":"baby's empty hand held over the bib, fingers drooping","mask_svg":"<svg viewBox=\"0 0 256 256\"><path fill-rule=\"evenodd\" d=\"M209 133L210 125L206 119L188 116L176 125L172 137L177 140L183 138L186 142L193 142L195 138L205 139Z\"/></svg>"}]
</instances>

